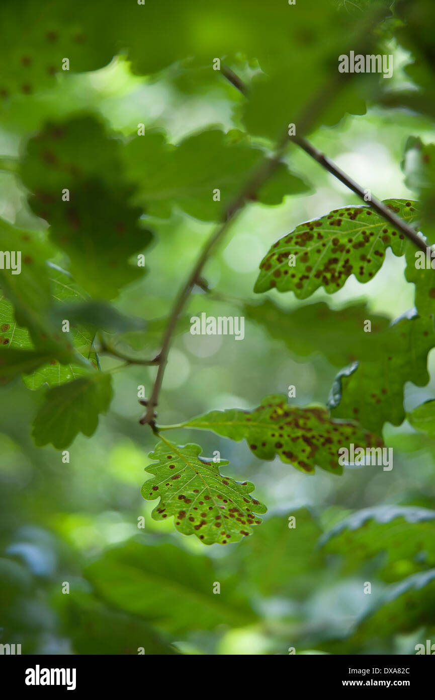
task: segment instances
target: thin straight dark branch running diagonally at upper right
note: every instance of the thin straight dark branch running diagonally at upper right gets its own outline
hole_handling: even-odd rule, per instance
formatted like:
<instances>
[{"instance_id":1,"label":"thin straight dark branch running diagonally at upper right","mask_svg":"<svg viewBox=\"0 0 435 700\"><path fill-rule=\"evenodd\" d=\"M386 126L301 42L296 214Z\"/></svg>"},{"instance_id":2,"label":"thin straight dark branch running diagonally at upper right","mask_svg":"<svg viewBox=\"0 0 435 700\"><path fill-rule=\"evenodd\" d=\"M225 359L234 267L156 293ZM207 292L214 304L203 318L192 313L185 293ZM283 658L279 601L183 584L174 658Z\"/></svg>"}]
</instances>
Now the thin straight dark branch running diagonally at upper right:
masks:
<instances>
[{"instance_id":1,"label":"thin straight dark branch running diagonally at upper right","mask_svg":"<svg viewBox=\"0 0 435 700\"><path fill-rule=\"evenodd\" d=\"M221 66L221 73L224 75L227 80L231 83L231 85L234 85L237 90L239 90L242 94L246 95L248 94L248 86L243 83L243 80L239 78L234 71L232 71L228 66ZM311 156L316 162L319 163L325 170L327 170L331 175L334 175L337 180L343 183L346 187L348 187L350 190L352 190L357 197L359 197L364 204L367 204L371 209L374 209L380 216L386 219L386 221L389 221L397 230L401 231L408 239L413 241L413 244L420 248L421 251L426 252L427 245L425 241L422 239L422 237L418 236L417 233L411 226L408 226L407 223L402 221L399 216L394 214L394 211L392 209L389 209L385 204L383 204L380 200L378 200L378 197L373 197L371 195L371 200L369 202L366 202L364 199L366 195L366 191L364 188L362 188L358 183L355 182L355 180L352 180L348 175L343 172L337 165L335 165L330 158L327 158L327 156L324 153L321 153L321 151L318 151L317 148L312 146L309 141L304 139L303 137L288 137L288 141L294 141L295 144L297 144L300 148L302 148L305 153L308 153L308 155Z\"/></svg>"}]
</instances>

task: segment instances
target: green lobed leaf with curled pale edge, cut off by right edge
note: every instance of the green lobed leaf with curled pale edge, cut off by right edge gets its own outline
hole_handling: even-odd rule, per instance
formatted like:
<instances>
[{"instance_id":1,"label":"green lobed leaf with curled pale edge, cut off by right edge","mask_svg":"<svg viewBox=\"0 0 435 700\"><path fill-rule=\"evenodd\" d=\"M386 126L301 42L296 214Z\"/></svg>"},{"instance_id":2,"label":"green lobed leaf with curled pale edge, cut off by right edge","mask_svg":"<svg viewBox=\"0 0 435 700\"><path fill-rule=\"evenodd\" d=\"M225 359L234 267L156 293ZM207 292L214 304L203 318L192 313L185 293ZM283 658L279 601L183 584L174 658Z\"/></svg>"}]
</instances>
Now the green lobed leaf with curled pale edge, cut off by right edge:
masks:
<instances>
[{"instance_id":1,"label":"green lobed leaf with curled pale edge, cut off by right edge","mask_svg":"<svg viewBox=\"0 0 435 700\"><path fill-rule=\"evenodd\" d=\"M404 384L429 381L427 353L435 344L430 318L400 318L378 338L378 358L363 359L338 373L328 405L333 418L354 418L380 435L389 421L405 419Z\"/></svg>"}]
</instances>

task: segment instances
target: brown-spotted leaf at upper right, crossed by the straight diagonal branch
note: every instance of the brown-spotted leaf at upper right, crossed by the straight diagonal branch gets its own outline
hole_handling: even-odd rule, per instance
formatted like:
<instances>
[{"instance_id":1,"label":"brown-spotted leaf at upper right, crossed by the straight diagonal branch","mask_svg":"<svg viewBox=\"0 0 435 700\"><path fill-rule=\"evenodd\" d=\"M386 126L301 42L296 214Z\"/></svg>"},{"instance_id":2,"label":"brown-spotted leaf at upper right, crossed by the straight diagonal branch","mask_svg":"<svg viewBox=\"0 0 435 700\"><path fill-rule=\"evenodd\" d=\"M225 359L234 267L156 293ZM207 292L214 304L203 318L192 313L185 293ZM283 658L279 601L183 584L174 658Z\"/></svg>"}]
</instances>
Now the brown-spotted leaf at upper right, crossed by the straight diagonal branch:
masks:
<instances>
[{"instance_id":1,"label":"brown-spotted leaf at upper right, crossed by the straight diagonal branch","mask_svg":"<svg viewBox=\"0 0 435 700\"><path fill-rule=\"evenodd\" d=\"M383 202L408 224L418 219L416 202ZM270 248L260 264L254 291L293 291L306 299L319 287L332 294L351 274L359 282L373 279L385 251L404 255L407 239L370 207L343 207L297 226ZM294 255L294 258L289 258ZM291 265L290 263L294 263Z\"/></svg>"}]
</instances>

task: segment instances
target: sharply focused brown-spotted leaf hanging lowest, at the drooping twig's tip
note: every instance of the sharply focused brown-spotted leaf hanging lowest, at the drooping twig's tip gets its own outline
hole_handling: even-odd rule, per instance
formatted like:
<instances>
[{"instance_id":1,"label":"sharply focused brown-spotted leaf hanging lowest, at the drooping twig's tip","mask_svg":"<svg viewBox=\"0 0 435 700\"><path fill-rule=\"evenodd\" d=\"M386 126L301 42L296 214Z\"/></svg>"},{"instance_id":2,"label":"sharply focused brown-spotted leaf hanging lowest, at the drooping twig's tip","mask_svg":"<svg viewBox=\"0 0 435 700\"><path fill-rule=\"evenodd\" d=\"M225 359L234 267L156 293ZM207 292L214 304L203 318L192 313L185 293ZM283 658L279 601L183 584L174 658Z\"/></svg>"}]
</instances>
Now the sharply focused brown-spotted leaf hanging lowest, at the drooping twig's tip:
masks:
<instances>
[{"instance_id":1,"label":"sharply focused brown-spotted leaf hanging lowest, at the drooping twig's tip","mask_svg":"<svg viewBox=\"0 0 435 700\"><path fill-rule=\"evenodd\" d=\"M155 477L142 486L145 500L160 497L152 511L155 520L173 516L177 530L183 535L197 535L204 545L227 545L252 535L252 526L262 520L266 506L249 495L251 482L236 482L220 474L220 460L201 458L197 444L177 446L164 437L150 457L155 463L146 470Z\"/></svg>"}]
</instances>

